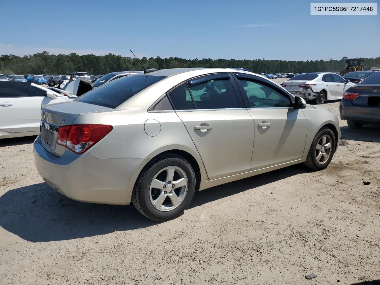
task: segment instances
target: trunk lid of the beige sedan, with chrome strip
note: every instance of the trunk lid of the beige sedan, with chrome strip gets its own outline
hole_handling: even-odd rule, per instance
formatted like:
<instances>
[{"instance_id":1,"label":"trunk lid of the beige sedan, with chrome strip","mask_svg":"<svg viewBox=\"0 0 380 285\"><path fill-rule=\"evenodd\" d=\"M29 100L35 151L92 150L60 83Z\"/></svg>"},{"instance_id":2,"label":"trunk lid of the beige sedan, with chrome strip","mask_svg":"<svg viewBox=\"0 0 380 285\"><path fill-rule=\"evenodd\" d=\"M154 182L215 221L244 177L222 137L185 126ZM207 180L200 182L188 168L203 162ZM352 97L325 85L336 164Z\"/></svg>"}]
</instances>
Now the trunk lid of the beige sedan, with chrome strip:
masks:
<instances>
[{"instance_id":1,"label":"trunk lid of the beige sedan, with chrome strip","mask_svg":"<svg viewBox=\"0 0 380 285\"><path fill-rule=\"evenodd\" d=\"M111 108L69 101L43 105L41 107L40 136L43 147L58 157L63 155L65 147L57 145L60 126L71 125L79 114L112 110Z\"/></svg>"}]
</instances>

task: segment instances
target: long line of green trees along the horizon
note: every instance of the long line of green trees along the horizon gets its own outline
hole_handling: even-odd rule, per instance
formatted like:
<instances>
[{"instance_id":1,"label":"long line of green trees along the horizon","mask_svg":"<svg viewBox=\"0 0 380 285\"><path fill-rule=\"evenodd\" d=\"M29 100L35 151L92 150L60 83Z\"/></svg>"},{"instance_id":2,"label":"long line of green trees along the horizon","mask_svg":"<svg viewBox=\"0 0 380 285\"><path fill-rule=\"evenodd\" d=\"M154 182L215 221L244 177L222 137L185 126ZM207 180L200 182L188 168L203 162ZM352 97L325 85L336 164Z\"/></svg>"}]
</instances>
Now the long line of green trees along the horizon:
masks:
<instances>
[{"instance_id":1,"label":"long line of green trees along the horizon","mask_svg":"<svg viewBox=\"0 0 380 285\"><path fill-rule=\"evenodd\" d=\"M142 57L145 68L182 68L182 67L240 67L255 73L282 72L338 72L346 64L347 57L340 60L265 60L265 59L181 59L178 57ZM379 67L380 57L364 58L365 67ZM121 55L78 55L49 54L46 51L33 55L6 54L0 57L0 73L12 74L70 74L73 71L84 71L90 74L107 74L113 71L142 70L138 60Z\"/></svg>"}]
</instances>

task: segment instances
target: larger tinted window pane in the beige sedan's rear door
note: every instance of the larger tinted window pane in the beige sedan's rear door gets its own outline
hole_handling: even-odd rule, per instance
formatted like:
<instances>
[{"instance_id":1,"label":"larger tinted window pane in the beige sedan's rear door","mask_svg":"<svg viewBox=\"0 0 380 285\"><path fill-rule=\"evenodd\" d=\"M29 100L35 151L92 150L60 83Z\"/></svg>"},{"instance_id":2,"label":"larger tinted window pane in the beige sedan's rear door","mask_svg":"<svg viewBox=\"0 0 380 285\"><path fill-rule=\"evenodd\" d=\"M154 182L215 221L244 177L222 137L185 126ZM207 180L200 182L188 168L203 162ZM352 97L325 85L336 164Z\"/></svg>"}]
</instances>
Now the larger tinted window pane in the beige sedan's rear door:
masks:
<instances>
[{"instance_id":1,"label":"larger tinted window pane in the beige sedan's rear door","mask_svg":"<svg viewBox=\"0 0 380 285\"><path fill-rule=\"evenodd\" d=\"M190 87L196 109L239 108L230 79L212 79Z\"/></svg>"}]
</instances>

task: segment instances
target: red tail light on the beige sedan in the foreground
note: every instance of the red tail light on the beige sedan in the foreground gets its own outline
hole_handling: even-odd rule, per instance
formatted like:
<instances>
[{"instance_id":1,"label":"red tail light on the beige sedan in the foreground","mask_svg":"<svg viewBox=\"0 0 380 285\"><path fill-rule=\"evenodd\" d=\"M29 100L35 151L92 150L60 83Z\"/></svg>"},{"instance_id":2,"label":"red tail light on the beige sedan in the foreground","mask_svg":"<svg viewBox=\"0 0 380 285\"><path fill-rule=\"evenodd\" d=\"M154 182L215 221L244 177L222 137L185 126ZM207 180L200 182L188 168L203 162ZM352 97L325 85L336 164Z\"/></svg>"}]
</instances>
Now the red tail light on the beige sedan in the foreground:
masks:
<instances>
[{"instance_id":1,"label":"red tail light on the beige sedan in the foreground","mask_svg":"<svg viewBox=\"0 0 380 285\"><path fill-rule=\"evenodd\" d=\"M82 154L110 131L110 125L71 125L58 129L57 144L65 146L76 154Z\"/></svg>"}]
</instances>

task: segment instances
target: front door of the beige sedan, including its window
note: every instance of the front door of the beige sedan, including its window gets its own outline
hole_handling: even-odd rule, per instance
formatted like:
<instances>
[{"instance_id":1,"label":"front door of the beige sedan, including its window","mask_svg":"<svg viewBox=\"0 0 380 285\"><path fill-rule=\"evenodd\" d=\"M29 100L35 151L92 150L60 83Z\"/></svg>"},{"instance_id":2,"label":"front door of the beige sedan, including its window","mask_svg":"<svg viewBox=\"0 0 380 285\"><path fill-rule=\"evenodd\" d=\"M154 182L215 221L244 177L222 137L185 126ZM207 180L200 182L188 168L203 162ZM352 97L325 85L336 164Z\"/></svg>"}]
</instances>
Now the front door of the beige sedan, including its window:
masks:
<instances>
[{"instance_id":1,"label":"front door of the beige sedan, including its window","mask_svg":"<svg viewBox=\"0 0 380 285\"><path fill-rule=\"evenodd\" d=\"M301 159L307 122L291 95L256 76L237 73L236 81L254 121L251 170Z\"/></svg>"}]
</instances>

